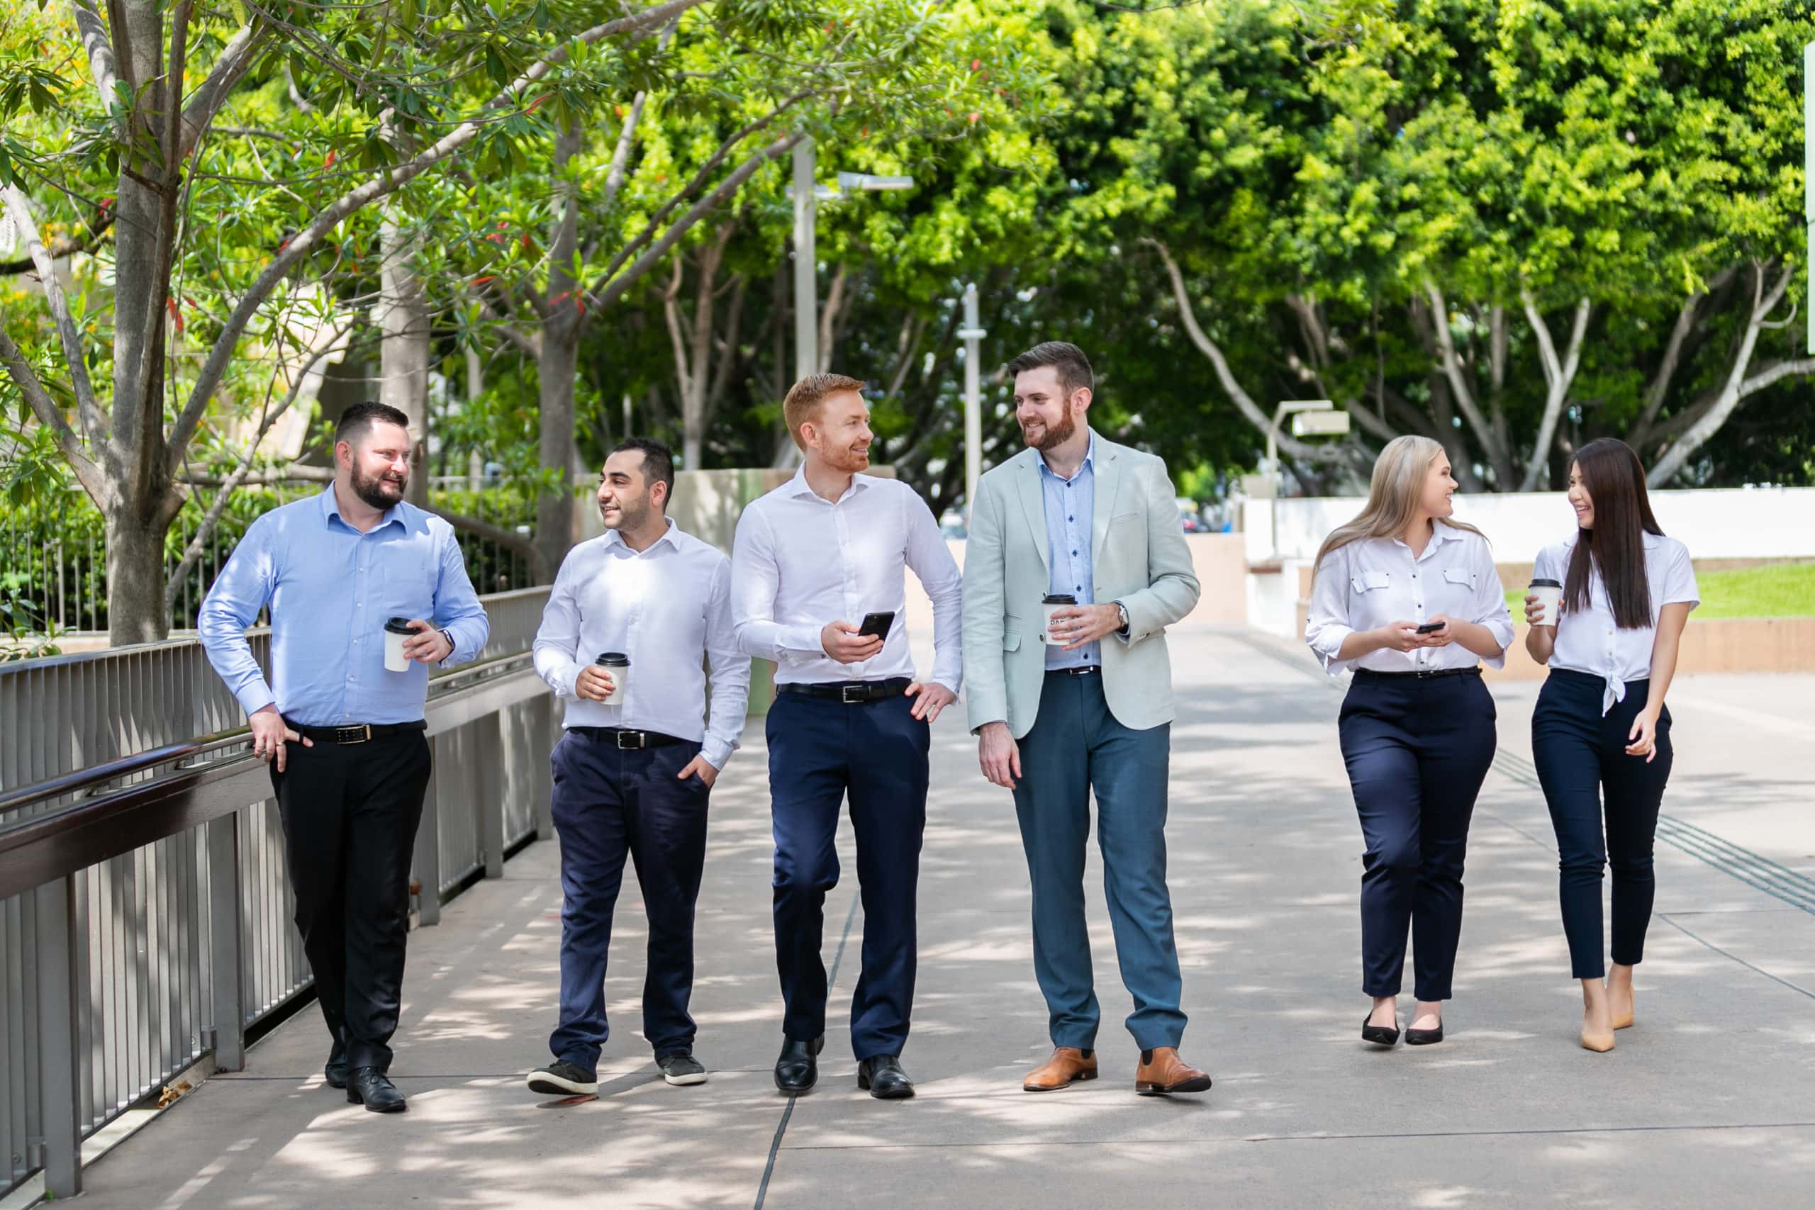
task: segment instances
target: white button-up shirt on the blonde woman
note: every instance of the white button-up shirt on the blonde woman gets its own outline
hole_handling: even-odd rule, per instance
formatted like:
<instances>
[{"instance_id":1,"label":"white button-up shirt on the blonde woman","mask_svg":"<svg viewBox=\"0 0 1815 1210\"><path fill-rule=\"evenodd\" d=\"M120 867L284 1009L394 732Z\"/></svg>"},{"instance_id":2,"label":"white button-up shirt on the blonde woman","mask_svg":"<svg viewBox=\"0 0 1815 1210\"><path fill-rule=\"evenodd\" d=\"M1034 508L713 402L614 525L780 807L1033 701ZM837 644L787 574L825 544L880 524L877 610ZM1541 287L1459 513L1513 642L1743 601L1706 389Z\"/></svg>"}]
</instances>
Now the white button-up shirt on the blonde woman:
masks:
<instances>
[{"instance_id":1,"label":"white button-up shirt on the blonde woman","mask_svg":"<svg viewBox=\"0 0 1815 1210\"><path fill-rule=\"evenodd\" d=\"M1378 673L1474 668L1481 657L1459 642L1412 651L1379 648L1358 660L1336 657L1343 640L1358 629L1378 629L1387 622L1423 624L1439 613L1486 626L1501 648L1499 657L1486 662L1505 668L1512 615L1494 570L1494 553L1479 533L1441 521L1432 526L1430 541L1416 559L1412 548L1396 537L1349 542L1325 555L1310 584L1305 642L1332 677L1350 666Z\"/></svg>"}]
</instances>

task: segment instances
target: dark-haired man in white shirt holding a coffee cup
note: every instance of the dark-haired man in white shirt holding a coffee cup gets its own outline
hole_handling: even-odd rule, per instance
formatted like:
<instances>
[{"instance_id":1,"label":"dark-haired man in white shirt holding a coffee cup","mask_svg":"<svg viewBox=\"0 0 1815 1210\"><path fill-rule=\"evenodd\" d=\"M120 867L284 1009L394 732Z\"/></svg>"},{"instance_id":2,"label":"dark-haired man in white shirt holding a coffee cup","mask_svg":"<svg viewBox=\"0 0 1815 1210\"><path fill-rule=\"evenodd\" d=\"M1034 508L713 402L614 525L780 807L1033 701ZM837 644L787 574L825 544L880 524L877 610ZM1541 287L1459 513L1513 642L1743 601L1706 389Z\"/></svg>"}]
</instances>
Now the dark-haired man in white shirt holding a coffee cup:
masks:
<instances>
[{"instance_id":1,"label":"dark-haired man in white shirt holding a coffee cup","mask_svg":"<svg viewBox=\"0 0 1815 1210\"><path fill-rule=\"evenodd\" d=\"M737 747L750 659L731 639L731 562L668 519L673 455L659 441L612 450L599 475L606 533L561 564L535 671L566 702L555 744L561 836L561 1023L532 1092L597 1092L604 963L624 858L650 918L643 1036L672 1085L704 1083L693 1058L693 902L706 862L706 798ZM702 718L711 666L711 718Z\"/></svg>"}]
</instances>

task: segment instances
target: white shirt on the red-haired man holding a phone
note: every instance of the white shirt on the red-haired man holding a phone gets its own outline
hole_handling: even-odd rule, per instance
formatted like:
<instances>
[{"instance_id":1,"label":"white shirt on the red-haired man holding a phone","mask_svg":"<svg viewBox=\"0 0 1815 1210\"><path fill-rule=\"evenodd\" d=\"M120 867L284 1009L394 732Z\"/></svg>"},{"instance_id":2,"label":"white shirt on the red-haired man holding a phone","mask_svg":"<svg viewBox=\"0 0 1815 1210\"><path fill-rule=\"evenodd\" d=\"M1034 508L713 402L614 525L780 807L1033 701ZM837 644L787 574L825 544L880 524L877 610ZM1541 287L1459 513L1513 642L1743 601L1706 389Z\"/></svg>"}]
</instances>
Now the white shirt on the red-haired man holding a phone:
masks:
<instances>
[{"instance_id":1,"label":"white shirt on the red-haired man holding a phone","mask_svg":"<svg viewBox=\"0 0 1815 1210\"><path fill-rule=\"evenodd\" d=\"M731 550L731 613L746 655L775 660L777 684L835 684L913 677L906 581L913 568L933 599L933 673L953 693L964 678L958 648L958 564L913 488L855 475L837 503L820 499L800 470L744 508ZM828 622L853 626L895 611L875 659L839 664L820 646Z\"/></svg>"}]
</instances>

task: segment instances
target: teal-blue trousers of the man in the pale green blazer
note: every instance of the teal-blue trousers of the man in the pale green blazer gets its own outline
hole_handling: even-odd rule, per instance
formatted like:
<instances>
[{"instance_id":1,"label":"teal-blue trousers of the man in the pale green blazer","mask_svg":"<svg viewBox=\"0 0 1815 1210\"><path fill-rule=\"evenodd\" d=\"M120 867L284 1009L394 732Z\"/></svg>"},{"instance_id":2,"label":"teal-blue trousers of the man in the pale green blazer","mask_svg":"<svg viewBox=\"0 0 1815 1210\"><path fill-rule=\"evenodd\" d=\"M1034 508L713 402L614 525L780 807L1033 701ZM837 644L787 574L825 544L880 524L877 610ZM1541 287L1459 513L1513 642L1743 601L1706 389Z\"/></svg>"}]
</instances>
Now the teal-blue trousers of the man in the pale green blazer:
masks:
<instances>
[{"instance_id":1,"label":"teal-blue trousers of the man in the pale green blazer","mask_svg":"<svg viewBox=\"0 0 1815 1210\"><path fill-rule=\"evenodd\" d=\"M1171 751L1171 726L1134 731L1116 722L1100 673L1045 675L1040 713L1020 740L1015 815L1033 885L1033 972L1055 1047L1096 1047L1100 1010L1084 918L1093 789L1116 961L1134 998L1127 1029L1142 1050L1176 1047L1185 1034L1172 896L1165 889Z\"/></svg>"}]
</instances>

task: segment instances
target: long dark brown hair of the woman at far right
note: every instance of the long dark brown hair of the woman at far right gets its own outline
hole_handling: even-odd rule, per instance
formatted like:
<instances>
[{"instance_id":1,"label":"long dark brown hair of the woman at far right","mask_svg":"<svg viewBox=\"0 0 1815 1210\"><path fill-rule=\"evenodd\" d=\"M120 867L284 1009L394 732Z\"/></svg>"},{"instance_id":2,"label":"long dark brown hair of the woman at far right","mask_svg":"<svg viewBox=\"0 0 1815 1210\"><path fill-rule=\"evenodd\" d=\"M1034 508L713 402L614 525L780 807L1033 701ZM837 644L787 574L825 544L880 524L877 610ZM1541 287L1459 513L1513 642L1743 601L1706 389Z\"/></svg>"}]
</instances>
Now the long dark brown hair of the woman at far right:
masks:
<instances>
[{"instance_id":1,"label":"long dark brown hair of the woman at far right","mask_svg":"<svg viewBox=\"0 0 1815 1210\"><path fill-rule=\"evenodd\" d=\"M1644 464L1617 437L1599 437L1575 452L1575 470L1594 504L1594 528L1583 530L1563 579L1563 608L1588 608L1588 579L1599 568L1614 624L1644 629L1652 624L1652 586L1644 575L1644 535L1655 533L1657 517L1644 493Z\"/></svg>"}]
</instances>

